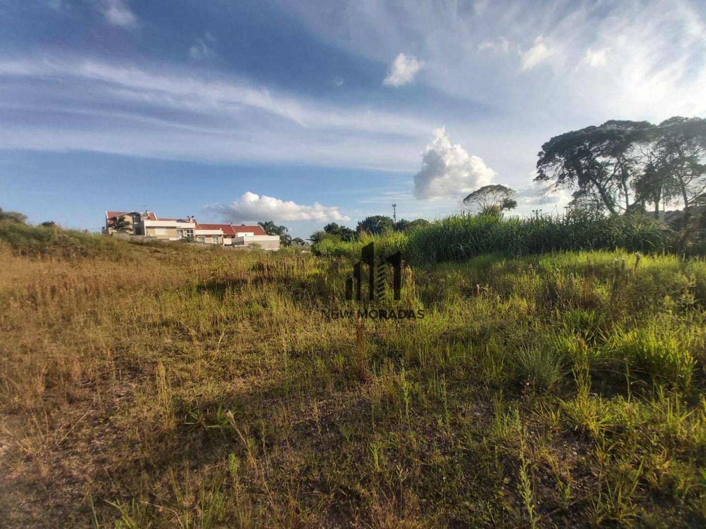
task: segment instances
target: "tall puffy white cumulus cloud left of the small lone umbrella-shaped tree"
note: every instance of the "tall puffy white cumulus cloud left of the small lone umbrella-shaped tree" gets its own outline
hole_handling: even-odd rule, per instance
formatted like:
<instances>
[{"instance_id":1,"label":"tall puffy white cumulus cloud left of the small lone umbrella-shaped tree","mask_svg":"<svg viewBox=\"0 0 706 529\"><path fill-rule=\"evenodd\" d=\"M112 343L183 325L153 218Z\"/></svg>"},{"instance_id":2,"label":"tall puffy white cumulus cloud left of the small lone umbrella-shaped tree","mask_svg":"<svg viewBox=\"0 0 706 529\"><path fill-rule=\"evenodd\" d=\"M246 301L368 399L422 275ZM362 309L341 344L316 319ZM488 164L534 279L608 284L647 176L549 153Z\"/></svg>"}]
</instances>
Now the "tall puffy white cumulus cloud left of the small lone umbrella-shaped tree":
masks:
<instances>
[{"instance_id":1,"label":"tall puffy white cumulus cloud left of the small lone umbrella-shaped tree","mask_svg":"<svg viewBox=\"0 0 706 529\"><path fill-rule=\"evenodd\" d=\"M414 175L417 198L460 200L477 188L487 186L496 176L481 157L468 154L458 144L452 145L444 127L433 131L433 140L421 154L421 169Z\"/></svg>"}]
</instances>

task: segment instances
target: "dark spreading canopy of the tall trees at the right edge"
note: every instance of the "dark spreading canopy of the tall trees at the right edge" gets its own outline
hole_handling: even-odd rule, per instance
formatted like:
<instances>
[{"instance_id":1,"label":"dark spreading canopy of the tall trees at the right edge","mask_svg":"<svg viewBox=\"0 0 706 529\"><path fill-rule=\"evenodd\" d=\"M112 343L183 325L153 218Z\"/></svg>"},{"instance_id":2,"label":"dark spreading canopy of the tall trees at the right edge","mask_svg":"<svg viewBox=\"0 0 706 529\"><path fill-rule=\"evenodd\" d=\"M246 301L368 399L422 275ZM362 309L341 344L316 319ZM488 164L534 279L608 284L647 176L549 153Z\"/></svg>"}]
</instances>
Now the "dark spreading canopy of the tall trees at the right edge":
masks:
<instances>
[{"instance_id":1,"label":"dark spreading canopy of the tall trees at the right edge","mask_svg":"<svg viewBox=\"0 0 706 529\"><path fill-rule=\"evenodd\" d=\"M674 117L606 121L542 145L537 176L546 190L573 191L573 205L611 214L681 202L686 211L706 189L706 121Z\"/></svg>"}]
</instances>

